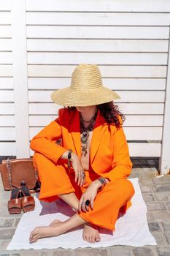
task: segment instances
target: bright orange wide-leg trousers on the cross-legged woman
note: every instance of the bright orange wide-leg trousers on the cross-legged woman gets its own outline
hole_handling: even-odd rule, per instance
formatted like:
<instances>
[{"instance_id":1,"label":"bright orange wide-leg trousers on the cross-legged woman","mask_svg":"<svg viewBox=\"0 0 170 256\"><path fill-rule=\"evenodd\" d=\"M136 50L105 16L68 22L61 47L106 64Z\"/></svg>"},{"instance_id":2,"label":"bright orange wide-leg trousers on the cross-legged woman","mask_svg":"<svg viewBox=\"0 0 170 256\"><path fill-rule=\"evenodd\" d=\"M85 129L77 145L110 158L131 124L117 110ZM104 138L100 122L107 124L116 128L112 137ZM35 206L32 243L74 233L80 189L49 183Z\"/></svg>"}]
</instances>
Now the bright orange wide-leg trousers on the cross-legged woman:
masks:
<instances>
[{"instance_id":1,"label":"bright orange wide-leg trousers on the cross-legged woman","mask_svg":"<svg viewBox=\"0 0 170 256\"><path fill-rule=\"evenodd\" d=\"M89 184L98 178L98 174L93 170L85 170L86 182L83 187L78 187L74 182L74 170L67 170L67 165L62 160L55 165L50 159L42 154L34 154L34 166L39 173L41 181L41 191L39 200L52 202L57 200L58 195L74 192L80 199ZM134 195L134 187L131 181L119 179L109 181L109 183L98 192L94 200L93 210L80 212L79 215L87 222L93 223L98 227L115 230L117 217L125 214L131 206L131 197Z\"/></svg>"}]
</instances>

